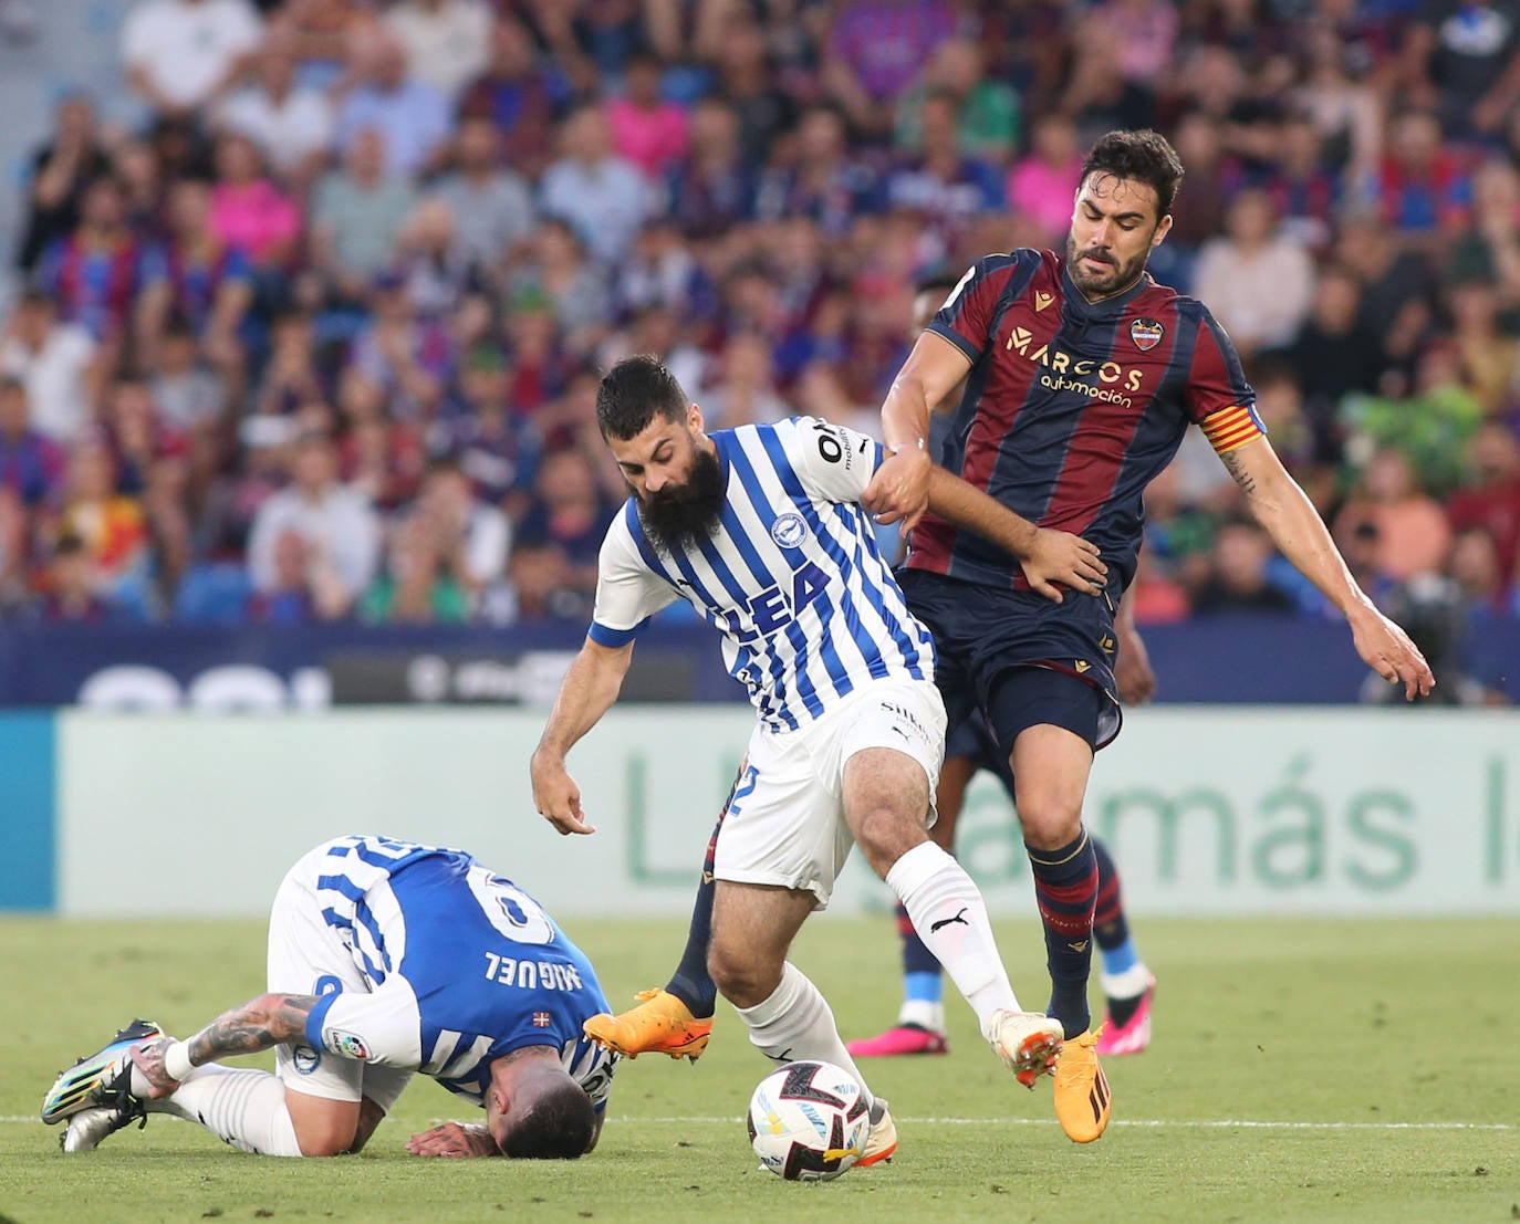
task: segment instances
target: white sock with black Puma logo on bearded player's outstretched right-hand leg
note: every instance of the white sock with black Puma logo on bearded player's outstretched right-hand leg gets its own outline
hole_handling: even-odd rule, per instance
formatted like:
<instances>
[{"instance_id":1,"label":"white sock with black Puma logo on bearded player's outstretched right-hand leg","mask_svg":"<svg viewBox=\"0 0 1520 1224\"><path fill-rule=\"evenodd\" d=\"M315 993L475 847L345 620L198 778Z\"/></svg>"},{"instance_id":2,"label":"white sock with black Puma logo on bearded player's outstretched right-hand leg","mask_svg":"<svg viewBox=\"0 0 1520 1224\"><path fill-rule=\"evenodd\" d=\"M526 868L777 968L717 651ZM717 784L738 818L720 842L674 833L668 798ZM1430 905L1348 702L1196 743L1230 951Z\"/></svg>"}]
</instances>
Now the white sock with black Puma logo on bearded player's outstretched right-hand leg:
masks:
<instances>
[{"instance_id":1,"label":"white sock with black Puma logo on bearded player's outstretched right-hand leg","mask_svg":"<svg viewBox=\"0 0 1520 1224\"><path fill-rule=\"evenodd\" d=\"M994 1011L1023 1010L997 954L982 893L965 867L933 841L924 841L892 864L886 884L907 910L924 948L971 1004L983 1031Z\"/></svg>"}]
</instances>

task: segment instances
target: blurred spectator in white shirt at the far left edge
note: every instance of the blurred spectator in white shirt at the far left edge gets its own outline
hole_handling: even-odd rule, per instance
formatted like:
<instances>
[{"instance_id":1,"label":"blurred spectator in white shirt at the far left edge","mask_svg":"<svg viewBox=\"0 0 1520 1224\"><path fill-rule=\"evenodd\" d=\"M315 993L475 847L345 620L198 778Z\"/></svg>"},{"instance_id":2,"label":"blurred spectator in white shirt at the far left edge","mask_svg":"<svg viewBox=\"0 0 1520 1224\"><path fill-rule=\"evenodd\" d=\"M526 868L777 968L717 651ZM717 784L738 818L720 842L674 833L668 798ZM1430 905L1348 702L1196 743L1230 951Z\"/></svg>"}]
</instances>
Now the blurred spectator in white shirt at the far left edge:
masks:
<instances>
[{"instance_id":1,"label":"blurred spectator in white shirt at the far left edge","mask_svg":"<svg viewBox=\"0 0 1520 1224\"><path fill-rule=\"evenodd\" d=\"M79 437L103 378L90 333L59 322L53 299L35 290L21 296L6 320L0 374L26 384L32 427L59 443Z\"/></svg>"}]
</instances>

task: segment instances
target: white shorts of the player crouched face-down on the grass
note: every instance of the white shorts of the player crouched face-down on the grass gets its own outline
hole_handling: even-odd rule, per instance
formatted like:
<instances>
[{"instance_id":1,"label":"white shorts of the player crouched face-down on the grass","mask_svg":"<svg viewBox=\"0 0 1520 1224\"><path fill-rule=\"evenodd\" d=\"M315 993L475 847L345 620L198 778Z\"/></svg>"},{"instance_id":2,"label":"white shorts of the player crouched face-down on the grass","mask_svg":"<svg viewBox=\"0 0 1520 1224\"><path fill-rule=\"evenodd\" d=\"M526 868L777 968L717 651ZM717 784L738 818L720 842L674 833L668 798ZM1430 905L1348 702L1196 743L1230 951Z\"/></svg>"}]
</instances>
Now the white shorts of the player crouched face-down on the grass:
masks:
<instances>
[{"instance_id":1,"label":"white shorts of the player crouched face-down on the grass","mask_svg":"<svg viewBox=\"0 0 1520 1224\"><path fill-rule=\"evenodd\" d=\"M269 913L269 990L280 995L325 995L342 989L365 995L368 983L354 964L353 952L322 919L316 879L322 873L327 846L318 846L296 863L280 884ZM413 1072L374 1066L313 1049L304 1040L275 1046L275 1074L289 1092L328 1101L369 1098L386 1113Z\"/></svg>"}]
</instances>

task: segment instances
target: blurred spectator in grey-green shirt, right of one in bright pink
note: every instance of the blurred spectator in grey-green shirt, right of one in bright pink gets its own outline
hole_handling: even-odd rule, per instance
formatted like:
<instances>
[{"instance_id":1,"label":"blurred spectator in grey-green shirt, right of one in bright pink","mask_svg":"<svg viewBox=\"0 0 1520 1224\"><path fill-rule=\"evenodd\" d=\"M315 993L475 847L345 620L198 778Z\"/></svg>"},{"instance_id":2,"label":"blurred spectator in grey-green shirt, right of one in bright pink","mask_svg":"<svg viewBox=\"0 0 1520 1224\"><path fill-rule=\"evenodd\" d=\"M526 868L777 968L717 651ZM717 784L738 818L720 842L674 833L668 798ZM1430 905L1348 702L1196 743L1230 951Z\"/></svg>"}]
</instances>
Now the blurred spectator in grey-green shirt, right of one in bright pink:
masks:
<instances>
[{"instance_id":1,"label":"blurred spectator in grey-green shirt, right of one in bright pink","mask_svg":"<svg viewBox=\"0 0 1520 1224\"><path fill-rule=\"evenodd\" d=\"M412 184L385 172L380 131L359 132L344 169L322 179L312 207L312 260L339 299L363 301L415 202Z\"/></svg>"}]
</instances>

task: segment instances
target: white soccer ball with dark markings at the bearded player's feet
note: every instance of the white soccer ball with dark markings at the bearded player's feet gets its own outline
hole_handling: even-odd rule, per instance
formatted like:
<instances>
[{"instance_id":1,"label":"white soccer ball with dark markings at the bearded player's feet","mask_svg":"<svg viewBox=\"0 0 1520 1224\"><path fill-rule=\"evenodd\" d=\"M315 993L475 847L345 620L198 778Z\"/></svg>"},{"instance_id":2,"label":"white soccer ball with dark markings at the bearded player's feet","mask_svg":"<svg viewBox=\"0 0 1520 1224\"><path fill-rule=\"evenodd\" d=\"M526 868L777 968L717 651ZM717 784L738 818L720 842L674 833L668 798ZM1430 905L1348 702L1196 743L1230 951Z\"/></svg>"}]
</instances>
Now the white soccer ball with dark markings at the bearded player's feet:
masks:
<instances>
[{"instance_id":1,"label":"white soccer ball with dark markings at the bearded player's feet","mask_svg":"<svg viewBox=\"0 0 1520 1224\"><path fill-rule=\"evenodd\" d=\"M787 1063L749 1098L749 1142L787 1181L828 1181L860 1159L871 1116L860 1084L833 1063Z\"/></svg>"}]
</instances>

